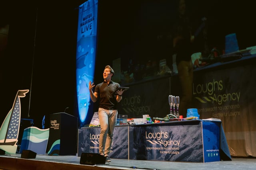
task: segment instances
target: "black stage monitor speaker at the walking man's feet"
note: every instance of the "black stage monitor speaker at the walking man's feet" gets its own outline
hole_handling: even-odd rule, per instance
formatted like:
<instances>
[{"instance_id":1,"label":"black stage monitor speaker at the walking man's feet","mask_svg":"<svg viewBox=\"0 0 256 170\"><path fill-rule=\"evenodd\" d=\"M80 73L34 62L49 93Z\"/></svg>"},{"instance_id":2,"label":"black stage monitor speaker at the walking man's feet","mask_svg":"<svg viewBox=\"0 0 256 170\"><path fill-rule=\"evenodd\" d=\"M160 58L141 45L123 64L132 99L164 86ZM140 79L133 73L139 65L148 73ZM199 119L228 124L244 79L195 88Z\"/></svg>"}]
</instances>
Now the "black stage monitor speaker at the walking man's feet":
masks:
<instances>
[{"instance_id":1,"label":"black stage monitor speaker at the walking man's feet","mask_svg":"<svg viewBox=\"0 0 256 170\"><path fill-rule=\"evenodd\" d=\"M95 165L105 164L106 158L98 153L82 153L80 158L80 164L83 165Z\"/></svg>"}]
</instances>

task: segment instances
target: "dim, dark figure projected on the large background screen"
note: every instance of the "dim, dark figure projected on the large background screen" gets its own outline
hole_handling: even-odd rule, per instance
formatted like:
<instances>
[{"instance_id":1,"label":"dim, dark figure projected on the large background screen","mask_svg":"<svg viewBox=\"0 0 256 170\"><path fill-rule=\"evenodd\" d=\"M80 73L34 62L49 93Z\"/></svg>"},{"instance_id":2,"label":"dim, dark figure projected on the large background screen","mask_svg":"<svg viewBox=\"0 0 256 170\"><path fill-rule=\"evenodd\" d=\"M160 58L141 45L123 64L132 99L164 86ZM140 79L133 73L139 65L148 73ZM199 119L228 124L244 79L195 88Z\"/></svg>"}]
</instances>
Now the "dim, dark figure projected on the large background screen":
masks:
<instances>
[{"instance_id":1,"label":"dim, dark figure projected on the large background screen","mask_svg":"<svg viewBox=\"0 0 256 170\"><path fill-rule=\"evenodd\" d=\"M173 51L176 54L178 78L180 80L182 96L180 101L180 115L186 116L187 109L191 108L192 84L193 84L193 63L191 59L194 53L192 34L192 22L186 13L186 1L177 0L177 16L173 24Z\"/></svg>"}]
</instances>

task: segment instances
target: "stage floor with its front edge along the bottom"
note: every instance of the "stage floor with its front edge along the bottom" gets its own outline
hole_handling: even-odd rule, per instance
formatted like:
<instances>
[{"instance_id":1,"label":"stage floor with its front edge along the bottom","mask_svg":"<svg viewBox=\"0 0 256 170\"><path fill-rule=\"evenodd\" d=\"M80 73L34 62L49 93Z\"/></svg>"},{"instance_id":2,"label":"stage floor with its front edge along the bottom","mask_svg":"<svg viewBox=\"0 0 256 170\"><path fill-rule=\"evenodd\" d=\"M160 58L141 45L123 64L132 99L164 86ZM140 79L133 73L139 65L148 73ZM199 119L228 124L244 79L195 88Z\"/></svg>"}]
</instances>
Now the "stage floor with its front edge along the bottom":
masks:
<instances>
[{"instance_id":1,"label":"stage floor with its front edge along the bottom","mask_svg":"<svg viewBox=\"0 0 256 170\"><path fill-rule=\"evenodd\" d=\"M232 161L216 162L171 162L152 160L113 159L106 164L82 165L79 156L36 155L36 158L23 159L21 154L0 155L1 170L254 170L255 158L232 158Z\"/></svg>"}]
</instances>

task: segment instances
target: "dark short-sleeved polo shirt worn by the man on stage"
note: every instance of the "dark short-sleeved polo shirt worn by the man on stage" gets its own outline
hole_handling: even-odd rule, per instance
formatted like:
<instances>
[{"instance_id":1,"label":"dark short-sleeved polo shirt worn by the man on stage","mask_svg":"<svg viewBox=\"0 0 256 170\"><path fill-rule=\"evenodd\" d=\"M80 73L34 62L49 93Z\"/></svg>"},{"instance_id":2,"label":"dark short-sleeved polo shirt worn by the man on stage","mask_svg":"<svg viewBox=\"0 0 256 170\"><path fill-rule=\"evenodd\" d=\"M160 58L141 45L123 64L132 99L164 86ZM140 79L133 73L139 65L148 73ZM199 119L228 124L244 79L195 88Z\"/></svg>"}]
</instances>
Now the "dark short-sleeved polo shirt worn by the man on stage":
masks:
<instances>
[{"instance_id":1,"label":"dark short-sleeved polo shirt worn by the man on stage","mask_svg":"<svg viewBox=\"0 0 256 170\"><path fill-rule=\"evenodd\" d=\"M97 84L95 92L100 95L100 108L114 110L116 108L116 89L120 87L120 84L113 82L112 80L107 84L106 81Z\"/></svg>"}]
</instances>

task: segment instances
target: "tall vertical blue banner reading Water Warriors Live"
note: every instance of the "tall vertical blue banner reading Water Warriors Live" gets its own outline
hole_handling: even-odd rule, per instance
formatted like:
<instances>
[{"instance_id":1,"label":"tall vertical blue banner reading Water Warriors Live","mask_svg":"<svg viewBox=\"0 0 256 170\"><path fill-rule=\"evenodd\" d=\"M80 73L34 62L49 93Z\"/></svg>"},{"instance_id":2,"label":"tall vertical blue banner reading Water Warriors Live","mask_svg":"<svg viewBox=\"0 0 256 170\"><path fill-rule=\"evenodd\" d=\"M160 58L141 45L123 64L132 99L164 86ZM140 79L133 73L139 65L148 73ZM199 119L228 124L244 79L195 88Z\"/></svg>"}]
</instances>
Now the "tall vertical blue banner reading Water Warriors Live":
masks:
<instances>
[{"instance_id":1,"label":"tall vertical blue banner reading Water Warriors Live","mask_svg":"<svg viewBox=\"0 0 256 170\"><path fill-rule=\"evenodd\" d=\"M76 49L76 90L80 125L88 117L90 93L88 83L94 82L96 58L98 0L88 0L79 6Z\"/></svg>"}]
</instances>

